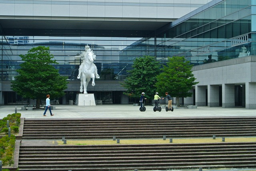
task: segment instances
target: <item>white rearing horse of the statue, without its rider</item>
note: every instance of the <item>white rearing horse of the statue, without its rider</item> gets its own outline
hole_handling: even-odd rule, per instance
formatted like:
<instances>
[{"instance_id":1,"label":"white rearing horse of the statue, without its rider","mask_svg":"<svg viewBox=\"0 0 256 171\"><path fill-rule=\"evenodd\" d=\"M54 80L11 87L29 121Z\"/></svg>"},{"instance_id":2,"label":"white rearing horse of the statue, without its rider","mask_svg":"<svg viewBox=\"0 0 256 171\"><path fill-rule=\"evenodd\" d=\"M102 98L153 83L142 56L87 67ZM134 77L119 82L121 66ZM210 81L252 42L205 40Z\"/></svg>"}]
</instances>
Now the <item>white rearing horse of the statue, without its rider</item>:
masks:
<instances>
[{"instance_id":1,"label":"white rearing horse of the statue, without its rider","mask_svg":"<svg viewBox=\"0 0 256 171\"><path fill-rule=\"evenodd\" d=\"M93 61L95 60L96 55L92 51L88 51L87 56L84 58L85 65L82 69L81 73L81 85L80 85L80 92L87 93L87 85L89 84L91 78L92 78L92 86L95 85L94 79L95 79L95 64ZM84 87L84 89L83 89Z\"/></svg>"}]
</instances>

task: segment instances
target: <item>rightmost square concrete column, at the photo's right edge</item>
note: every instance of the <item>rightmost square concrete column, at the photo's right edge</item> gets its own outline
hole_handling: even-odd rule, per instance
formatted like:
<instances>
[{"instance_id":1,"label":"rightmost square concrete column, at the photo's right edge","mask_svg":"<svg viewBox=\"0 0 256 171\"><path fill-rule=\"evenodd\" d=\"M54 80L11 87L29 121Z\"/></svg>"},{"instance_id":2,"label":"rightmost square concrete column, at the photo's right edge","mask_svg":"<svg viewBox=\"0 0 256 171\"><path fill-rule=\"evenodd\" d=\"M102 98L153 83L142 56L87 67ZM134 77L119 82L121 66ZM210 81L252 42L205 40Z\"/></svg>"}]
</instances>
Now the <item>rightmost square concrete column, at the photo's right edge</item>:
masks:
<instances>
[{"instance_id":1,"label":"rightmost square concrete column, at the photo's right edge","mask_svg":"<svg viewBox=\"0 0 256 171\"><path fill-rule=\"evenodd\" d=\"M256 109L256 83L245 83L245 108Z\"/></svg>"}]
</instances>

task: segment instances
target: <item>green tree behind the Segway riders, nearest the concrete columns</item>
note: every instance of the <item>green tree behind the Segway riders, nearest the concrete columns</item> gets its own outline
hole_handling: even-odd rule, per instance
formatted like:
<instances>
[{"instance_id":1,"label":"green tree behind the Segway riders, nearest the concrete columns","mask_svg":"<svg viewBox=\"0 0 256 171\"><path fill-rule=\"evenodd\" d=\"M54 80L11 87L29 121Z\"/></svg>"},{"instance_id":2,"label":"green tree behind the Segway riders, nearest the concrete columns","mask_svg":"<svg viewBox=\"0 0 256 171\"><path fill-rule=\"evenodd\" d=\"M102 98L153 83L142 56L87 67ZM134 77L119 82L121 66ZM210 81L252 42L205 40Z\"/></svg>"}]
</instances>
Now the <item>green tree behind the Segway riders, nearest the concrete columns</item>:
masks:
<instances>
[{"instance_id":1,"label":"green tree behind the Segway riders, nearest the concrete columns","mask_svg":"<svg viewBox=\"0 0 256 171\"><path fill-rule=\"evenodd\" d=\"M195 82L194 74L192 74L192 67L189 61L185 61L184 57L174 56L168 58L167 66L162 69L163 72L159 74L155 86L160 94L166 91L172 97L176 97L177 105L180 105L180 97L191 97L192 93L188 92Z\"/></svg>"}]
</instances>

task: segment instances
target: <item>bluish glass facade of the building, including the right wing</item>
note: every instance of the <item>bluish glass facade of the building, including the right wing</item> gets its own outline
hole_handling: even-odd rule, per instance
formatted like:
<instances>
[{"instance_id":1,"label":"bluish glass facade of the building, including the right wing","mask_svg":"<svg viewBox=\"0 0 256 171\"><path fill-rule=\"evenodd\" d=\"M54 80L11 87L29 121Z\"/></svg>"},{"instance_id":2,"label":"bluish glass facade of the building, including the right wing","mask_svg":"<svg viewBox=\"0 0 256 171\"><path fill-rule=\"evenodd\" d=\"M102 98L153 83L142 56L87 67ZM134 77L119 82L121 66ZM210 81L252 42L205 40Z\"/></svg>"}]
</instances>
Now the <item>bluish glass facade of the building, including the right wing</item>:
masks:
<instances>
[{"instance_id":1,"label":"bluish glass facade of the building, including the right wing","mask_svg":"<svg viewBox=\"0 0 256 171\"><path fill-rule=\"evenodd\" d=\"M153 32L148 30L122 30L112 33L97 32L95 36L80 36L86 30L70 30L70 33L56 31L54 36L31 34L17 36L5 35L0 26L0 76L1 81L14 80L16 69L22 63L20 54L36 46L49 46L54 67L61 76L68 76L70 84L78 82L78 68L82 63L73 56L81 54L88 44L96 54L94 63L100 79L104 82L122 82L131 69L135 58L156 56L161 64L168 57L184 56L195 66L212 62L256 55L256 2L255 0L214 0L186 16L170 22ZM92 34L93 35L93 34ZM79 84L79 83L78 83ZM122 94L120 84L115 90L104 88L97 91L97 99L111 99L106 103L121 103L118 94ZM74 100L78 90L70 88L66 101ZM22 101L15 92L6 91L4 103ZM109 97L110 96L110 97Z\"/></svg>"}]
</instances>

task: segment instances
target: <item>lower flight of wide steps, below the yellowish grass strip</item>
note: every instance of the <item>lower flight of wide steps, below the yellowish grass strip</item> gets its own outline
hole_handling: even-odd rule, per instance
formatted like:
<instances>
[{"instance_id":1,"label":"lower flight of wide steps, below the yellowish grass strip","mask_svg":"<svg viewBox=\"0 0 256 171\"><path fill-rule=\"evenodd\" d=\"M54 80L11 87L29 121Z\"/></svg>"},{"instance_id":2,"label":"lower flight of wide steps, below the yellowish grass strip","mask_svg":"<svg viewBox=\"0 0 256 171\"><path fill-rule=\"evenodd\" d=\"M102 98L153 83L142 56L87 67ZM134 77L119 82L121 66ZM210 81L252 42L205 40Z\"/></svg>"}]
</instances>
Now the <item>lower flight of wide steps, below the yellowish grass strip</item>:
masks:
<instances>
[{"instance_id":1,"label":"lower flight of wide steps, below the yellowish grass strip","mask_svg":"<svg viewBox=\"0 0 256 171\"><path fill-rule=\"evenodd\" d=\"M19 171L256 167L254 143L20 146Z\"/></svg>"}]
</instances>

